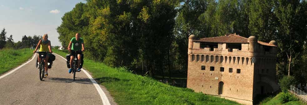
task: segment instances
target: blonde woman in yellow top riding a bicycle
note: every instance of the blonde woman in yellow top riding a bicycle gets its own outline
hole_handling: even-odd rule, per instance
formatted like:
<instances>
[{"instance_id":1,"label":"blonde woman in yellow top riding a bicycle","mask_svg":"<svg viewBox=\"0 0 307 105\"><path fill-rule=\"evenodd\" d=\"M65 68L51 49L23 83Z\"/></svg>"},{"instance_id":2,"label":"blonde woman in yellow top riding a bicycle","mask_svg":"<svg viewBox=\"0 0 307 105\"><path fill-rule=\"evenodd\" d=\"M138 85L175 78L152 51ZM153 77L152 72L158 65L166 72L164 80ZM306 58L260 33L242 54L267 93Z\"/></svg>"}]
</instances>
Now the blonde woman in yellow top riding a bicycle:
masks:
<instances>
[{"instance_id":1,"label":"blonde woman in yellow top riding a bicycle","mask_svg":"<svg viewBox=\"0 0 307 105\"><path fill-rule=\"evenodd\" d=\"M41 52L50 52L52 53L51 50L51 43L50 40L48 40L48 34L44 34L42 37L42 40L39 40L39 42L37 43L37 46L35 48L35 50L33 51L33 53L35 53L37 51L38 46L40 45L40 49L39 51ZM50 53L47 53L46 57L45 57L45 76L48 76L48 59L50 56ZM38 55L39 56L39 55ZM39 59L39 57L37 56L38 62L41 62L41 59Z\"/></svg>"}]
</instances>

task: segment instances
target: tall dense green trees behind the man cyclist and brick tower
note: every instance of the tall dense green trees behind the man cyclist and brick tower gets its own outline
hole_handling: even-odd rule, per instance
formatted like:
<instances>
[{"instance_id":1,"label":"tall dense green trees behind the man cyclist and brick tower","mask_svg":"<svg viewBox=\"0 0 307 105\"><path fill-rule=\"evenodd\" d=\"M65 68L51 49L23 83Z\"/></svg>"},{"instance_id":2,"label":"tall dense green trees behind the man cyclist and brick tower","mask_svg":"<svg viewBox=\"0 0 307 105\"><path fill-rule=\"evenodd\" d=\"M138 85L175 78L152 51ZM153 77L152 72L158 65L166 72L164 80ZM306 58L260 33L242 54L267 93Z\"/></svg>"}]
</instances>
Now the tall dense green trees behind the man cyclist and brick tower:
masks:
<instances>
[{"instance_id":1,"label":"tall dense green trees behind the man cyclist and brick tower","mask_svg":"<svg viewBox=\"0 0 307 105\"><path fill-rule=\"evenodd\" d=\"M307 80L306 0L86 0L57 27L64 47L76 33L86 56L141 74L187 71L188 37L236 33L278 42L277 74Z\"/></svg>"}]
</instances>

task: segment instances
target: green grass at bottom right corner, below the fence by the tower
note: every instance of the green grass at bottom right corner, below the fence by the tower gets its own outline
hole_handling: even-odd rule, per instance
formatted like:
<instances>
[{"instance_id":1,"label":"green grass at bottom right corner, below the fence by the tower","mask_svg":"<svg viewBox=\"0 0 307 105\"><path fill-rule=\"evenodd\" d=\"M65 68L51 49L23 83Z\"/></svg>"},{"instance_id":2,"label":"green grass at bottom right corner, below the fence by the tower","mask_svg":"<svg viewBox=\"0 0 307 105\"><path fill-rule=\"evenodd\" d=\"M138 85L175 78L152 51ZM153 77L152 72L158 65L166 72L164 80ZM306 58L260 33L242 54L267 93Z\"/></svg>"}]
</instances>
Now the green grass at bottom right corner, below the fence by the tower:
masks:
<instances>
[{"instance_id":1,"label":"green grass at bottom right corner, below the fence by the tower","mask_svg":"<svg viewBox=\"0 0 307 105\"><path fill-rule=\"evenodd\" d=\"M287 103L282 104L281 100L280 100L280 94L277 94L274 98L267 100L265 99L265 101L260 102L261 105L305 105L304 103L300 102L300 101L290 101Z\"/></svg>"}]
</instances>

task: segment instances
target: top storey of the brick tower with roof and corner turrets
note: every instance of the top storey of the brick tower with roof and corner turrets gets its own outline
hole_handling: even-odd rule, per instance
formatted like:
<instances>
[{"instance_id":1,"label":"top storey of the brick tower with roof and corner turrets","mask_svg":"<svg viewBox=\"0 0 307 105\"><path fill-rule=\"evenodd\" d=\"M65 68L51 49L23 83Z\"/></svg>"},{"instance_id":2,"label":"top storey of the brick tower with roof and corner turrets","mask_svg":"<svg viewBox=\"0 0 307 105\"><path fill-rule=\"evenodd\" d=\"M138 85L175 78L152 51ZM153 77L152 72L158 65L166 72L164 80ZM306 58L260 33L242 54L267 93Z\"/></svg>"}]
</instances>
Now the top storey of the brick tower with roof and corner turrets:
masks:
<instances>
[{"instance_id":1,"label":"top storey of the brick tower with roof and corner turrets","mask_svg":"<svg viewBox=\"0 0 307 105\"><path fill-rule=\"evenodd\" d=\"M271 41L272 42L272 41ZM230 34L222 37L197 40L195 35L189 37L188 54L219 54L246 57L276 57L277 43L257 41L254 36L247 39Z\"/></svg>"}]
</instances>

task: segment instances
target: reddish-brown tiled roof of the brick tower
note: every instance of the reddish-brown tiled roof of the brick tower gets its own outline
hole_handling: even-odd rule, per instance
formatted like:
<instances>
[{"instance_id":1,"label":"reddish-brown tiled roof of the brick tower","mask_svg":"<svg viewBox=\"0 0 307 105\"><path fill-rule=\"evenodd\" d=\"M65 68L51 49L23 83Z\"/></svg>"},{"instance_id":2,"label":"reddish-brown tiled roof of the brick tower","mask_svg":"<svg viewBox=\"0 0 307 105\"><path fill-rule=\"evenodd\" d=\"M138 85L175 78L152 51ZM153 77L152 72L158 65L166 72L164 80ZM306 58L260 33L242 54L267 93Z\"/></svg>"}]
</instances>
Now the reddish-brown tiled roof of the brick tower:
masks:
<instances>
[{"instance_id":1,"label":"reddish-brown tiled roof of the brick tower","mask_svg":"<svg viewBox=\"0 0 307 105\"><path fill-rule=\"evenodd\" d=\"M247 38L242 37L237 34L229 34L225 36L218 36L218 37L210 37L210 38L201 38L199 40L194 40L195 42L211 42L211 43L248 43ZM259 44L265 46L273 46L277 47L274 44L269 44L265 42L258 41Z\"/></svg>"}]
</instances>

